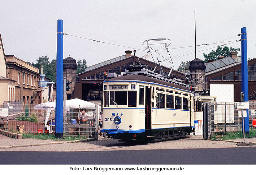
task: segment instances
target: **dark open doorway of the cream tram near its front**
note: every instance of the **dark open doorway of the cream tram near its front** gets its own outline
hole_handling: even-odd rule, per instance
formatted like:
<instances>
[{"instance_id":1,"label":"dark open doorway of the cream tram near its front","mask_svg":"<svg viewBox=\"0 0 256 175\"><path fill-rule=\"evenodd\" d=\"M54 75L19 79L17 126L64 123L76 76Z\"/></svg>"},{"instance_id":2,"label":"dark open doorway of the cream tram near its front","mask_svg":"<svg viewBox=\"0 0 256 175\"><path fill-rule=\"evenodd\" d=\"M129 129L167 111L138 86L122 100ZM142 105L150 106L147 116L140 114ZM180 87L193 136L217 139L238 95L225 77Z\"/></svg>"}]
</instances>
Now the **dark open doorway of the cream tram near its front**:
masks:
<instances>
[{"instance_id":1,"label":"dark open doorway of the cream tram near its front","mask_svg":"<svg viewBox=\"0 0 256 175\"><path fill-rule=\"evenodd\" d=\"M151 126L151 89L146 87L145 98L145 129L150 129Z\"/></svg>"}]
</instances>

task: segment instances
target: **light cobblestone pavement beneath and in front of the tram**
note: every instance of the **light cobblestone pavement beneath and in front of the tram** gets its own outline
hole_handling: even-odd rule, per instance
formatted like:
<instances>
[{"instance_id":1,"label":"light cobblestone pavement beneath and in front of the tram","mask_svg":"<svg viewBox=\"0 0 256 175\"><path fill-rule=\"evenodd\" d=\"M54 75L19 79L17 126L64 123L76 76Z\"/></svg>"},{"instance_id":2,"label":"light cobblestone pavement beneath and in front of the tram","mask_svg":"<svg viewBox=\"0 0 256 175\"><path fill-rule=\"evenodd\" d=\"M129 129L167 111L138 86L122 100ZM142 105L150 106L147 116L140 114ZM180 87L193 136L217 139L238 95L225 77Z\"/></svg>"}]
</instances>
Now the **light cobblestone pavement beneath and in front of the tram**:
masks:
<instances>
[{"instance_id":1,"label":"light cobblestone pavement beneath and in front of the tram","mask_svg":"<svg viewBox=\"0 0 256 175\"><path fill-rule=\"evenodd\" d=\"M193 149L193 148L234 148L239 147L233 142L203 140L202 136L188 136L170 141L143 143L118 142L117 139L99 138L98 141L82 141L78 143L67 141L52 141L42 139L13 139L0 135L0 151L120 151L120 150L148 150L148 149ZM246 142L256 143L256 138L246 138ZM246 146L243 146L246 147ZM252 146L250 146L252 147ZM256 146L253 146L256 147Z\"/></svg>"}]
</instances>

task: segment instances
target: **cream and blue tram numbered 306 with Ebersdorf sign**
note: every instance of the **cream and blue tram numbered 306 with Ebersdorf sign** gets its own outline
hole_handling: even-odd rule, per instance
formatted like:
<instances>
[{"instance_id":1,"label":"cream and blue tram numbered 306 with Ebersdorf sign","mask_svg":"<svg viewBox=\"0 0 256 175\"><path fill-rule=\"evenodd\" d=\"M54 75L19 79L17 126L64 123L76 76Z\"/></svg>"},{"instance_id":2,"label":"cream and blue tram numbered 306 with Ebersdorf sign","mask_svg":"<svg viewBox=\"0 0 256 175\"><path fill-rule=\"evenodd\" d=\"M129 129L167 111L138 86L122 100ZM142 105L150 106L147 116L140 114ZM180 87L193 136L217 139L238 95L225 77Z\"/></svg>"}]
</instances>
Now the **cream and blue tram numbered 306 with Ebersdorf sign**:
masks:
<instances>
[{"instance_id":1,"label":"cream and blue tram numbered 306 with Ebersdorf sign","mask_svg":"<svg viewBox=\"0 0 256 175\"><path fill-rule=\"evenodd\" d=\"M186 137L194 125L194 93L181 82L148 75L144 69L129 71L103 83L101 132L124 141Z\"/></svg>"}]
</instances>

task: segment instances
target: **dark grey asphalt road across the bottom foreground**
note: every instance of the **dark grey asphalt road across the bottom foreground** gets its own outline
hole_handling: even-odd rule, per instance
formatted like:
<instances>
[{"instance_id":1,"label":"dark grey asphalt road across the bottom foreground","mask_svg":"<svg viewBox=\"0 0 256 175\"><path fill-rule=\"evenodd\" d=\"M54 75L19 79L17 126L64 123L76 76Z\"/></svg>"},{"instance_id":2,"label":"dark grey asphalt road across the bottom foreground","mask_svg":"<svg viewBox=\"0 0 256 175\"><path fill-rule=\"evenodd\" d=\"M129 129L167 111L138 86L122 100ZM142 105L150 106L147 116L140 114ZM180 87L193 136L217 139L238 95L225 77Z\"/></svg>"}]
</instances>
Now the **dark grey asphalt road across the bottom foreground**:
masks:
<instances>
[{"instance_id":1,"label":"dark grey asphalt road across the bottom foreground","mask_svg":"<svg viewBox=\"0 0 256 175\"><path fill-rule=\"evenodd\" d=\"M0 152L0 164L189 165L256 164L255 147L92 152Z\"/></svg>"}]
</instances>

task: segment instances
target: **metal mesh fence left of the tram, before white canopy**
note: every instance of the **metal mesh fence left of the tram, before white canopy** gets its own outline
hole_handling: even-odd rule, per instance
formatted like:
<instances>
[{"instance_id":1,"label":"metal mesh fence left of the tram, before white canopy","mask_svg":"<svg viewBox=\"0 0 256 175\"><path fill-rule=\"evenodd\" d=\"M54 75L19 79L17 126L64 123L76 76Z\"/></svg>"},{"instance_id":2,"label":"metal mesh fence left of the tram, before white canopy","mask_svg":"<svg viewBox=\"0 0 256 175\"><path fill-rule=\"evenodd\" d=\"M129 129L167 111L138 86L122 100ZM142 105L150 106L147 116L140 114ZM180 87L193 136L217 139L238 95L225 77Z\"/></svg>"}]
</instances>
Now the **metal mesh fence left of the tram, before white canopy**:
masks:
<instances>
[{"instance_id":1,"label":"metal mesh fence left of the tram, before white canopy","mask_svg":"<svg viewBox=\"0 0 256 175\"><path fill-rule=\"evenodd\" d=\"M21 103L7 103L0 108L9 108L7 116L0 116L0 128L20 133L55 133L55 105L22 105ZM96 110L97 109L97 110ZM78 120L78 114L85 111L88 120ZM63 117L64 135L84 135L97 137L98 105L66 105Z\"/></svg>"}]
</instances>

